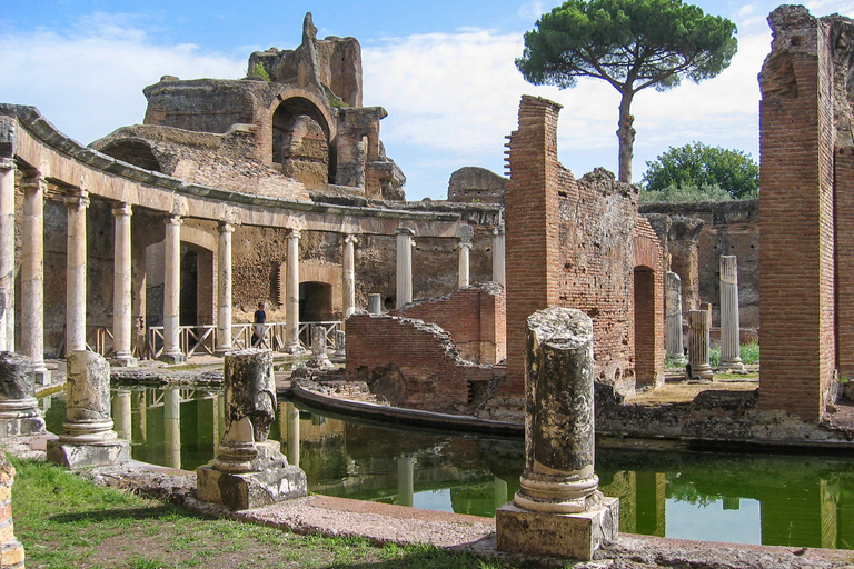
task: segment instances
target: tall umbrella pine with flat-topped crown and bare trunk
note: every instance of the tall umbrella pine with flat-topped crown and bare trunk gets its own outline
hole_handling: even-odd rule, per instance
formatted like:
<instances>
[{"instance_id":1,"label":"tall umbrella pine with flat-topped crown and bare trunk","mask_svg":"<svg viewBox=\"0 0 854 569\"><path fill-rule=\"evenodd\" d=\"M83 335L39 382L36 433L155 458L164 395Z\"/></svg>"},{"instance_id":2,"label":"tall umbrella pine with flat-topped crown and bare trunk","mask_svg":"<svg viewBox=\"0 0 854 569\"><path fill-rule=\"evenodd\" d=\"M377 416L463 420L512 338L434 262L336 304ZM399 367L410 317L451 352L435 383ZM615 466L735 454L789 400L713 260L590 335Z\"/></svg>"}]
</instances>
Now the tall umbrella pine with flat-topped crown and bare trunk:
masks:
<instances>
[{"instance_id":1,"label":"tall umbrella pine with flat-topped crown and bare trunk","mask_svg":"<svg viewBox=\"0 0 854 569\"><path fill-rule=\"evenodd\" d=\"M619 180L630 183L635 93L717 76L735 54L735 32L726 18L681 0L568 0L525 33L516 67L534 84L565 89L592 77L619 91Z\"/></svg>"}]
</instances>

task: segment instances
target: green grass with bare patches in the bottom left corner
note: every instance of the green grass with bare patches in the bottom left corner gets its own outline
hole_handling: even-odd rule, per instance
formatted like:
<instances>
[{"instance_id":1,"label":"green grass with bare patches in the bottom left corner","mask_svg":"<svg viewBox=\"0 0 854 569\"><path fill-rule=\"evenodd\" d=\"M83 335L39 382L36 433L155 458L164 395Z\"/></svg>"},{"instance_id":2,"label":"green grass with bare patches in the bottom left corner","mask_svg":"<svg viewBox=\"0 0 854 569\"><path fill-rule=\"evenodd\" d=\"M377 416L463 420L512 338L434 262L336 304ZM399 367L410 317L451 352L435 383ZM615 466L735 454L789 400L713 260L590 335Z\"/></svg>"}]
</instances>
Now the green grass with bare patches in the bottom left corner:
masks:
<instances>
[{"instance_id":1,"label":"green grass with bare patches in the bottom left corner","mask_svg":"<svg viewBox=\"0 0 854 569\"><path fill-rule=\"evenodd\" d=\"M428 546L375 547L361 538L297 536L211 519L97 487L48 463L12 460L16 537L29 569L508 567Z\"/></svg>"}]
</instances>

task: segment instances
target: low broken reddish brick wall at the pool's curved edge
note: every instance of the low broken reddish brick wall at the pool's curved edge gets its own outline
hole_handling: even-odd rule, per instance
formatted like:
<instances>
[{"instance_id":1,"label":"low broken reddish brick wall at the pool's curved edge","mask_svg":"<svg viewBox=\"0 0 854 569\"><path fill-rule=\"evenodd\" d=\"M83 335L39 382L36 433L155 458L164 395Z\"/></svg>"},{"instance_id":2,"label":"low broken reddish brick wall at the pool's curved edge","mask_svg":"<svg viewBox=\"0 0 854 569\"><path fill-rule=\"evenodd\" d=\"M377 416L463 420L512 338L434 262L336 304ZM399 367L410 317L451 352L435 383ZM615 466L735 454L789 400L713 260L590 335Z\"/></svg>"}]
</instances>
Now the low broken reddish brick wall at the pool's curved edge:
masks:
<instances>
[{"instance_id":1,"label":"low broken reddish brick wall at the pool's curved edge","mask_svg":"<svg viewBox=\"0 0 854 569\"><path fill-rule=\"evenodd\" d=\"M356 313L347 319L346 376L396 406L470 413L503 379L504 368L463 360L436 325Z\"/></svg>"}]
</instances>

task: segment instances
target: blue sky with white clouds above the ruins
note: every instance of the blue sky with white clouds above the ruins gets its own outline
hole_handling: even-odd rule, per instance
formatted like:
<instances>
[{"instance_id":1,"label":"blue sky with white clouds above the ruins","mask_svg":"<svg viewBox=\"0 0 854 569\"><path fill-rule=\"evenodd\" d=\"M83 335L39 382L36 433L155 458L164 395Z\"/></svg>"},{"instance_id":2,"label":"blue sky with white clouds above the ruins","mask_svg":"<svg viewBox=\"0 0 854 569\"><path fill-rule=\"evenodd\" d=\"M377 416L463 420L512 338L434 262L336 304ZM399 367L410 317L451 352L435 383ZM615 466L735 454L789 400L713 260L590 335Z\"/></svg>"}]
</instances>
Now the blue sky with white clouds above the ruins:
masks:
<instances>
[{"instance_id":1,"label":"blue sky with white clouds above the ruins","mask_svg":"<svg viewBox=\"0 0 854 569\"><path fill-rule=\"evenodd\" d=\"M311 11L318 37L354 36L363 47L366 106L381 106L387 153L407 176L407 199L444 199L450 173L479 166L504 173L504 137L522 94L564 106L558 153L576 177L616 171L618 96L583 80L557 90L526 83L513 63L522 36L552 2L16 1L0 11L0 101L38 107L59 130L89 143L140 123L142 88L161 76L238 79L249 54L292 49ZM556 4L557 1L554 2ZM768 52L765 18L777 2L696 2L738 26L729 69L699 84L639 92L634 180L669 147L698 140L758 160L758 83ZM814 16L854 17L854 0L806 2Z\"/></svg>"}]
</instances>

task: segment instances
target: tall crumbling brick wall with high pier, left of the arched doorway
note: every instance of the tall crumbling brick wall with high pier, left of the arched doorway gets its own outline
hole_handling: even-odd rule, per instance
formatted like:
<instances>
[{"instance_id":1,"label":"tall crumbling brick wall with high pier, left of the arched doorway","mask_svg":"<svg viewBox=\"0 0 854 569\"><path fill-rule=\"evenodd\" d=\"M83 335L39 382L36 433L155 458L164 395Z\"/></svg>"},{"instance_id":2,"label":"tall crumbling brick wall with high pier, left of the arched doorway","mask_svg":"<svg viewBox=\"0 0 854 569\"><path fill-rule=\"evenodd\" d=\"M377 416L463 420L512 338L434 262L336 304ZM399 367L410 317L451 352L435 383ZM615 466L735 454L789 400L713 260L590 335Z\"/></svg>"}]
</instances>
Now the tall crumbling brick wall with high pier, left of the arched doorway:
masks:
<instances>
[{"instance_id":1,"label":"tall crumbling brick wall with high pier, left of the arched doorway","mask_svg":"<svg viewBox=\"0 0 854 569\"><path fill-rule=\"evenodd\" d=\"M547 306L577 308L594 322L597 381L630 395L635 383L658 385L658 363L636 379L634 269L637 193L610 172L594 170L575 180L557 161L560 106L523 97L519 128L509 137L510 180L505 193L507 269L507 382L502 393L524 389L525 319ZM658 316L649 322L648 353L663 361L664 256L655 232L642 233L657 248L648 292ZM659 341L661 339L661 341ZM647 353L643 355L647 357ZM657 356L656 356L657 357Z\"/></svg>"}]
</instances>

